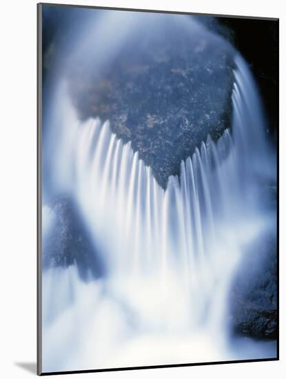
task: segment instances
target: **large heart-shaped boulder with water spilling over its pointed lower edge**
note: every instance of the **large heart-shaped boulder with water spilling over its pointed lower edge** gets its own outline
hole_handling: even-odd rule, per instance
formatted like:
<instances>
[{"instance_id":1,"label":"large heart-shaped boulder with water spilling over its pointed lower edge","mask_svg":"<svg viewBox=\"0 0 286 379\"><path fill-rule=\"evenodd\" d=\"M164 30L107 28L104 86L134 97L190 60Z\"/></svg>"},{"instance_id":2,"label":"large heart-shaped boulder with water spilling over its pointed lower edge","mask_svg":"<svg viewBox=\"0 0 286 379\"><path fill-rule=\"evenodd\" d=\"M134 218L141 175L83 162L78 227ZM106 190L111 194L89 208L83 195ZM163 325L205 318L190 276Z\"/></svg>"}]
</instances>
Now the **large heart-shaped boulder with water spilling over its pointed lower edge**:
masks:
<instances>
[{"instance_id":1,"label":"large heart-shaped boulder with water spilling over its pointed lower edge","mask_svg":"<svg viewBox=\"0 0 286 379\"><path fill-rule=\"evenodd\" d=\"M82 43L68 70L72 101L81 119L109 119L165 187L207 134L216 140L231 126L234 50L174 14L141 14L119 48L117 39L114 28L104 44L96 36ZM114 51L105 59L108 46Z\"/></svg>"}]
</instances>

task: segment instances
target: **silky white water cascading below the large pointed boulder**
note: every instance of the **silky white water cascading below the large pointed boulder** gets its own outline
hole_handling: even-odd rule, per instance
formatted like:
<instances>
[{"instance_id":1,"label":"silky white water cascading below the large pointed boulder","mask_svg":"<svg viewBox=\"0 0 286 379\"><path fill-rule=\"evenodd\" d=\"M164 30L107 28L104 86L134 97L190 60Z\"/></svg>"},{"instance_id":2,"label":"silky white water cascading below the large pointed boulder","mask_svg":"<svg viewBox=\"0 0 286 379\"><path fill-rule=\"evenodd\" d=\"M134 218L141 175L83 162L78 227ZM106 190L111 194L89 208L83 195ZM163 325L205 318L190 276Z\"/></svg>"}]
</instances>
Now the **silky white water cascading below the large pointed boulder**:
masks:
<instances>
[{"instance_id":1,"label":"silky white water cascading below the large pointed boulder","mask_svg":"<svg viewBox=\"0 0 286 379\"><path fill-rule=\"evenodd\" d=\"M88 283L75 266L44 272L43 371L264 357L257 347L241 357L227 338L234 274L272 221L260 193L272 172L261 105L241 57L236 65L232 132L201 143L165 191L108 121L76 119L61 85L57 184L108 272Z\"/></svg>"}]
</instances>

